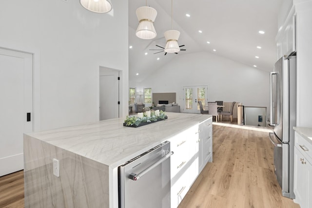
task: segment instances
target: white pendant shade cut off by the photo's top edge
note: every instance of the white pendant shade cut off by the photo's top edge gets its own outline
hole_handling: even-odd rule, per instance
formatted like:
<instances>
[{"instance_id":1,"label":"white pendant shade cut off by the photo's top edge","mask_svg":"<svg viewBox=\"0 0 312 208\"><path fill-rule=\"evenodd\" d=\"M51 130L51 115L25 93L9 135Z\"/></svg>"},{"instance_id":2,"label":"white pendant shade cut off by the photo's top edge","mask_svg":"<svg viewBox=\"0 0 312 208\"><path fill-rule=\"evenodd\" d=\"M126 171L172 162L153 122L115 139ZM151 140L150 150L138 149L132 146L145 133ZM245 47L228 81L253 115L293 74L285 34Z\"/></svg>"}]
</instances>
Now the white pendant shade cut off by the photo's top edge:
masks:
<instances>
[{"instance_id":1,"label":"white pendant shade cut off by the photo's top edge","mask_svg":"<svg viewBox=\"0 0 312 208\"><path fill-rule=\"evenodd\" d=\"M112 10L112 5L107 0L80 0L80 3L91 12L107 13Z\"/></svg>"}]
</instances>

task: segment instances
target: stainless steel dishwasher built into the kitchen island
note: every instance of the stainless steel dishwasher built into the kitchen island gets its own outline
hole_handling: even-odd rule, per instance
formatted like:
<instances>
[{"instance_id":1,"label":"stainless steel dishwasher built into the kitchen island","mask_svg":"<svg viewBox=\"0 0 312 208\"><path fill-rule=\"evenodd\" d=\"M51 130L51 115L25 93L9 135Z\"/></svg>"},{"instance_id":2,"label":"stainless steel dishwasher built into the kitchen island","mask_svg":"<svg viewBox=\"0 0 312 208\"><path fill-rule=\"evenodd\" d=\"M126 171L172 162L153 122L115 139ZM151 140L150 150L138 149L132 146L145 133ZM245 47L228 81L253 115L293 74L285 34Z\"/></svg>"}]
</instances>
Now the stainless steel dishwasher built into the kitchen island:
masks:
<instances>
[{"instance_id":1,"label":"stainless steel dishwasher built into the kitchen island","mask_svg":"<svg viewBox=\"0 0 312 208\"><path fill-rule=\"evenodd\" d=\"M119 208L170 208L170 142L118 168Z\"/></svg>"}]
</instances>

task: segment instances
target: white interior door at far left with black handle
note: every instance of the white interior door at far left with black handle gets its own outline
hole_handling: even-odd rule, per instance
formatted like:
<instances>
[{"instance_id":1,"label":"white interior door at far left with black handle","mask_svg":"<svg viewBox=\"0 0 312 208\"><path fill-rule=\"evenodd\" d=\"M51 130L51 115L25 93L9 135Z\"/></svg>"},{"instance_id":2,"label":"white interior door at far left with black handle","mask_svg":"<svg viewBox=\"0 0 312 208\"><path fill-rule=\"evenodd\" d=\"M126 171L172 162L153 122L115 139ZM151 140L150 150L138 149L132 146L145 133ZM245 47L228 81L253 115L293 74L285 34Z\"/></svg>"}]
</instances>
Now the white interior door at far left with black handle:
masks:
<instances>
[{"instance_id":1,"label":"white interior door at far left with black handle","mask_svg":"<svg viewBox=\"0 0 312 208\"><path fill-rule=\"evenodd\" d=\"M32 72L32 54L0 48L0 176L24 168L23 133L33 131Z\"/></svg>"}]
</instances>

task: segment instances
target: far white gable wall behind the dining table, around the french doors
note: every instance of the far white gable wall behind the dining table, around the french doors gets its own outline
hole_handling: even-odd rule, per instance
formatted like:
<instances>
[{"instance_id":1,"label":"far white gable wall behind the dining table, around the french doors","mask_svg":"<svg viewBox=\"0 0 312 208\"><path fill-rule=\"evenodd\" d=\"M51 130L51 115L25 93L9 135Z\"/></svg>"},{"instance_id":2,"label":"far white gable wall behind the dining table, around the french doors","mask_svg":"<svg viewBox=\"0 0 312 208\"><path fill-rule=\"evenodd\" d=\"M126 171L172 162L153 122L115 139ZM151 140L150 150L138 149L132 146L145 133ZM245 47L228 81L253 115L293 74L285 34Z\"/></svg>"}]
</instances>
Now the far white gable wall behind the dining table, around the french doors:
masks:
<instances>
[{"instance_id":1,"label":"far white gable wall behind the dining table, around the french doors","mask_svg":"<svg viewBox=\"0 0 312 208\"><path fill-rule=\"evenodd\" d=\"M179 54L142 82L129 85L137 87L137 91L151 87L153 93L176 92L176 102L181 108L183 86L208 85L209 101L238 101L269 110L269 72L207 52Z\"/></svg>"}]
</instances>

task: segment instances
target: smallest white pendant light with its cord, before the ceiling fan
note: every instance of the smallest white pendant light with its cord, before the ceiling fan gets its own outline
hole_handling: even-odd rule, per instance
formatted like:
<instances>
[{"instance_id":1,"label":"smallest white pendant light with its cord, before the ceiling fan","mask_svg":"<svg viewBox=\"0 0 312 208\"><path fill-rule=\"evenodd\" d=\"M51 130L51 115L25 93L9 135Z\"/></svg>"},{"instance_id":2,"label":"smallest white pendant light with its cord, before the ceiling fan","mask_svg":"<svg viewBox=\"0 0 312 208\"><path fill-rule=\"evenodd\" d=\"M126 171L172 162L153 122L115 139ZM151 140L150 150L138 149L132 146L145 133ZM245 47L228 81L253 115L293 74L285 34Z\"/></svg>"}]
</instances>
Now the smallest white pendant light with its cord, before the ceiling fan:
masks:
<instances>
[{"instance_id":1,"label":"smallest white pendant light with its cord, before the ceiling fan","mask_svg":"<svg viewBox=\"0 0 312 208\"><path fill-rule=\"evenodd\" d=\"M180 51L179 44L177 40L179 39L180 32L173 29L173 0L171 0L171 30L164 33L166 38L166 46L164 51L166 53L177 53Z\"/></svg>"}]
</instances>

